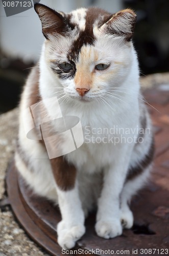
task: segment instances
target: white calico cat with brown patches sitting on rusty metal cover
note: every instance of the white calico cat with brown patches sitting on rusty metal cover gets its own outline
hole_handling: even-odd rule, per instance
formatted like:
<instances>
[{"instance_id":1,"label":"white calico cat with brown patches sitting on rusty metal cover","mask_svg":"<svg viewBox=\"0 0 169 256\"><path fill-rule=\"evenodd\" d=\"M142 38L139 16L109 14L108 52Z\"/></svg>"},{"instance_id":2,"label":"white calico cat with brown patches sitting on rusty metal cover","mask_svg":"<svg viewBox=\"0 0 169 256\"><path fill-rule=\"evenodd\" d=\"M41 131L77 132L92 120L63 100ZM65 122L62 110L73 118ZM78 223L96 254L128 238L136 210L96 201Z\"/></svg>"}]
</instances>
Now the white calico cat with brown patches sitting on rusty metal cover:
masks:
<instances>
[{"instance_id":1,"label":"white calico cat with brown patches sitting on rusty metal cover","mask_svg":"<svg viewBox=\"0 0 169 256\"><path fill-rule=\"evenodd\" d=\"M150 176L154 140L132 43L136 14L96 7L63 13L41 4L35 4L35 11L45 41L21 96L15 163L35 193L59 205L58 243L70 249L85 233L84 221L93 209L99 237L114 238L131 228L129 203ZM51 140L54 155L49 159L40 126L30 124L32 139L24 128L24 117L28 126L31 122L27 110L38 110L38 104L49 137L62 129L57 118L70 117L65 132L77 117L76 139L82 140L82 129L84 143L55 155ZM40 116L36 111L37 120ZM69 144L64 147L68 150Z\"/></svg>"}]
</instances>

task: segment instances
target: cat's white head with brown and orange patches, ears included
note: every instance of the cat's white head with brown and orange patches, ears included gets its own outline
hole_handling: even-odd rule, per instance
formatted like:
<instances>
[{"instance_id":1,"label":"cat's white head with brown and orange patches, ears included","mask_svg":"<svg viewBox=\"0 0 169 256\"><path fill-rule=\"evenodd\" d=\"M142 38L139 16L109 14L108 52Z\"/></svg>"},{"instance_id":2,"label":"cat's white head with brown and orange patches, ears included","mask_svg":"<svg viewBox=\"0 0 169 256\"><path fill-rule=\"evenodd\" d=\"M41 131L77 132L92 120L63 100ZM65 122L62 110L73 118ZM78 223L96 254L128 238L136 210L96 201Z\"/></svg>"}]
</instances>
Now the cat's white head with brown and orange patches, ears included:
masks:
<instances>
[{"instance_id":1,"label":"cat's white head with brown and orange patches, ears included","mask_svg":"<svg viewBox=\"0 0 169 256\"><path fill-rule=\"evenodd\" d=\"M131 38L136 14L132 10L110 14L81 8L67 14L40 4L35 10L46 38L47 72L66 96L92 101L105 93L108 97L109 89L123 83L134 52Z\"/></svg>"}]
</instances>

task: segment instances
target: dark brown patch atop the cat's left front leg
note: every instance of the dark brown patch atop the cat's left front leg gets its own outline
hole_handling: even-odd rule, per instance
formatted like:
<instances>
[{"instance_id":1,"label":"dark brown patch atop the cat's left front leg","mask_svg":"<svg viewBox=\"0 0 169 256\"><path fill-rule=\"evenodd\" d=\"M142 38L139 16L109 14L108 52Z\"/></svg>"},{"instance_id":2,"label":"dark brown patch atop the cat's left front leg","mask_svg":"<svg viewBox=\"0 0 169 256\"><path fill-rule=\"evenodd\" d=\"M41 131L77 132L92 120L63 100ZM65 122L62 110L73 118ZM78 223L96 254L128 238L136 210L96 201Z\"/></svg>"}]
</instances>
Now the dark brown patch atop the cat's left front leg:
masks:
<instances>
[{"instance_id":1,"label":"dark brown patch atop the cat's left front leg","mask_svg":"<svg viewBox=\"0 0 169 256\"><path fill-rule=\"evenodd\" d=\"M53 158L50 162L58 187L64 191L73 189L75 187L77 173L75 166L68 164L62 156Z\"/></svg>"}]
</instances>

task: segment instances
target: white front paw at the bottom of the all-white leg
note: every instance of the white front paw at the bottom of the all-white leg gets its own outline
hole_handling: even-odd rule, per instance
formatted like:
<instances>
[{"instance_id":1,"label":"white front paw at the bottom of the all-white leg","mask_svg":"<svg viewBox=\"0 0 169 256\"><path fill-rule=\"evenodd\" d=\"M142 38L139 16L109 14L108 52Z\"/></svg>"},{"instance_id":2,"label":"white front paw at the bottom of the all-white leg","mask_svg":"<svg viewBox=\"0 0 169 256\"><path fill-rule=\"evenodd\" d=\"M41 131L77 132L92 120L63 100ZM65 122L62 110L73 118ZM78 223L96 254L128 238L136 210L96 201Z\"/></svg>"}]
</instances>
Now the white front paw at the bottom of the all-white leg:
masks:
<instances>
[{"instance_id":1,"label":"white front paw at the bottom of the all-white leg","mask_svg":"<svg viewBox=\"0 0 169 256\"><path fill-rule=\"evenodd\" d=\"M99 237L109 239L120 236L123 228L118 219L113 219L111 222L101 220L95 224L95 231Z\"/></svg>"}]
</instances>

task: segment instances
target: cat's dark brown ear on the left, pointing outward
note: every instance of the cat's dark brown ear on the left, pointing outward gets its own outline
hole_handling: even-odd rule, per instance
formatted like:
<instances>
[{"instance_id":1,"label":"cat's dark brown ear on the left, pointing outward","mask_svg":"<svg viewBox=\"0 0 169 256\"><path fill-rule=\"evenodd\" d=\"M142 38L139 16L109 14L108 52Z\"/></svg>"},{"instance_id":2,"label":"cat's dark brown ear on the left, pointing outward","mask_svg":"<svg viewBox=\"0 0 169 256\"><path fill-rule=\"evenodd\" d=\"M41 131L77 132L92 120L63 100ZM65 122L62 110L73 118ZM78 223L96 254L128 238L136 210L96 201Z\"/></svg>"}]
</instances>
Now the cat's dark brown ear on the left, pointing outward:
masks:
<instances>
[{"instance_id":1,"label":"cat's dark brown ear on the left, pointing outward","mask_svg":"<svg viewBox=\"0 0 169 256\"><path fill-rule=\"evenodd\" d=\"M49 39L50 34L64 35L68 30L68 24L62 13L56 12L42 4L35 4L34 8L40 18L42 32L46 39Z\"/></svg>"}]
</instances>

